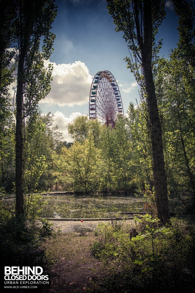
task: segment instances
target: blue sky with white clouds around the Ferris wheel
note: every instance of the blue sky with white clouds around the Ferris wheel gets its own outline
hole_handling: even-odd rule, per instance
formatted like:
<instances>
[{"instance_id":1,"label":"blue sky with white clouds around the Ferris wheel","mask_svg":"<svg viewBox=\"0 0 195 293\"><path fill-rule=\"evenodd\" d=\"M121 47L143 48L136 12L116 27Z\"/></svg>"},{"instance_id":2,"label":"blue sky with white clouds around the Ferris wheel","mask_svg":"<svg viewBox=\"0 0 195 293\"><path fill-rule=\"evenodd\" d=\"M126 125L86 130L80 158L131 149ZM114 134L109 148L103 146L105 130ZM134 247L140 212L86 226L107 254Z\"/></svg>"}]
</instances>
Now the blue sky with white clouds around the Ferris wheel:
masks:
<instances>
[{"instance_id":1,"label":"blue sky with white clouds around the Ferris wheel","mask_svg":"<svg viewBox=\"0 0 195 293\"><path fill-rule=\"evenodd\" d=\"M139 86L133 73L126 68L124 58L129 56L123 33L115 31L108 14L106 0L56 0L58 15L53 22L56 35L51 91L39 103L44 114L54 114L54 125L71 138L67 125L78 115L89 114L89 94L92 79L98 71L108 70L117 81L124 114L129 102L139 102ZM168 57L178 42L178 19L170 0L165 1L167 12L156 40L163 38L160 56ZM45 61L47 65L47 61Z\"/></svg>"}]
</instances>

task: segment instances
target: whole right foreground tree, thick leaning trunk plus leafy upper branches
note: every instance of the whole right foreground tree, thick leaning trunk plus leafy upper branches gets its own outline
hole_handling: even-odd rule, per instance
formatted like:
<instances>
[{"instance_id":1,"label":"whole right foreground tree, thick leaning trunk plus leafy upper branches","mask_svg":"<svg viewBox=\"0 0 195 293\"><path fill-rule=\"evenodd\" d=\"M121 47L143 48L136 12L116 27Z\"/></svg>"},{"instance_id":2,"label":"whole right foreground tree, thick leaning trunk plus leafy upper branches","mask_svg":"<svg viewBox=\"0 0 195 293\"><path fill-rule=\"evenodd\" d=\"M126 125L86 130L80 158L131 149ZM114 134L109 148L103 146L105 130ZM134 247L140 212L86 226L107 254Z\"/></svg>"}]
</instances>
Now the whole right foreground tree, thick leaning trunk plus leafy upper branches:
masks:
<instances>
[{"instance_id":1,"label":"whole right foreground tree, thick leaning trunk plus leafy upper branches","mask_svg":"<svg viewBox=\"0 0 195 293\"><path fill-rule=\"evenodd\" d=\"M165 18L164 1L107 0L108 10L116 24L116 31L124 33L130 57L126 57L147 101L148 127L152 145L153 172L158 217L162 223L170 219L167 179L165 173L162 131L158 113L153 71L159 43L155 35Z\"/></svg>"}]
</instances>

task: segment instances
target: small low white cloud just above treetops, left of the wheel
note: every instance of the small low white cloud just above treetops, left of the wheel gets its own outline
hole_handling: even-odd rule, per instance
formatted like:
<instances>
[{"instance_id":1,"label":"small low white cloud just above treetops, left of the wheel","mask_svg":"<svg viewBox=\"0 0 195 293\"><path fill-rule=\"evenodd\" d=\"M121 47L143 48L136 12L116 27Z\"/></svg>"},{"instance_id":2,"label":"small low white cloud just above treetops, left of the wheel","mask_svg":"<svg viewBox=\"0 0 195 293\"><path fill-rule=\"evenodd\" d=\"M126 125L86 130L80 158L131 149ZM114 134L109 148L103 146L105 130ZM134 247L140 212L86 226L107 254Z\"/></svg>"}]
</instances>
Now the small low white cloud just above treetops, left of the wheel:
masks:
<instances>
[{"instance_id":1,"label":"small low white cloud just above treetops, left of the wheel","mask_svg":"<svg viewBox=\"0 0 195 293\"><path fill-rule=\"evenodd\" d=\"M57 111L56 113L54 113L53 125L57 124L59 126L58 131L62 132L62 136L67 142L72 141L71 137L69 137L67 126L71 121L74 120L74 118L80 115L82 115L80 112L74 112L71 113L69 117L65 117L62 112Z\"/></svg>"}]
</instances>

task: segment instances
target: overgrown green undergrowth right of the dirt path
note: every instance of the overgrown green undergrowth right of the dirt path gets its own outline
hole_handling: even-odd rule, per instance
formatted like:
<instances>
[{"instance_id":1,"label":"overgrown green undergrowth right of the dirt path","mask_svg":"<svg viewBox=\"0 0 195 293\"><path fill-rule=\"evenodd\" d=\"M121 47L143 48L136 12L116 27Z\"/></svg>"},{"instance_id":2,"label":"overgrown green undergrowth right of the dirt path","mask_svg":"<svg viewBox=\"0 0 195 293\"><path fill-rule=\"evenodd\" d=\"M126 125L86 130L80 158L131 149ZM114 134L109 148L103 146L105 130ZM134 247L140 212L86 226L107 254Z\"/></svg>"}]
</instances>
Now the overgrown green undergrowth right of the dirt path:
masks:
<instances>
[{"instance_id":1,"label":"overgrown green undergrowth right of the dirt path","mask_svg":"<svg viewBox=\"0 0 195 293\"><path fill-rule=\"evenodd\" d=\"M105 279L93 283L91 292L194 292L194 228L178 219L160 226L148 214L135 224L97 227L91 251L104 262Z\"/></svg>"}]
</instances>

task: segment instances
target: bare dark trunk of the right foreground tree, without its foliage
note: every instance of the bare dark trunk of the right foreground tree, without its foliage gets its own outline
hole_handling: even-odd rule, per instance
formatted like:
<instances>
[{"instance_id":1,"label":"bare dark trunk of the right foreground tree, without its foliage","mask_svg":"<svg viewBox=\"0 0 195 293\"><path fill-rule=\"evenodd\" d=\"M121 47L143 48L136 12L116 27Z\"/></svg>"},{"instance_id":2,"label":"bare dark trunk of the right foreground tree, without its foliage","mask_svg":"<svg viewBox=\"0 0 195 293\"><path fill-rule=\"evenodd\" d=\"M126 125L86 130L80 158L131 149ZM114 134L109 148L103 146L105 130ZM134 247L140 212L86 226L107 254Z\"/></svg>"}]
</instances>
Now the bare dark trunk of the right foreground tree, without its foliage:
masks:
<instances>
[{"instance_id":1,"label":"bare dark trunk of the right foreground tree, without its foliage","mask_svg":"<svg viewBox=\"0 0 195 293\"><path fill-rule=\"evenodd\" d=\"M144 0L144 42L142 46L142 66L147 92L147 106L150 120L157 213L161 222L166 223L170 219L170 213L168 206L167 178L165 173L162 131L158 114L155 84L152 74L151 0Z\"/></svg>"}]
</instances>

